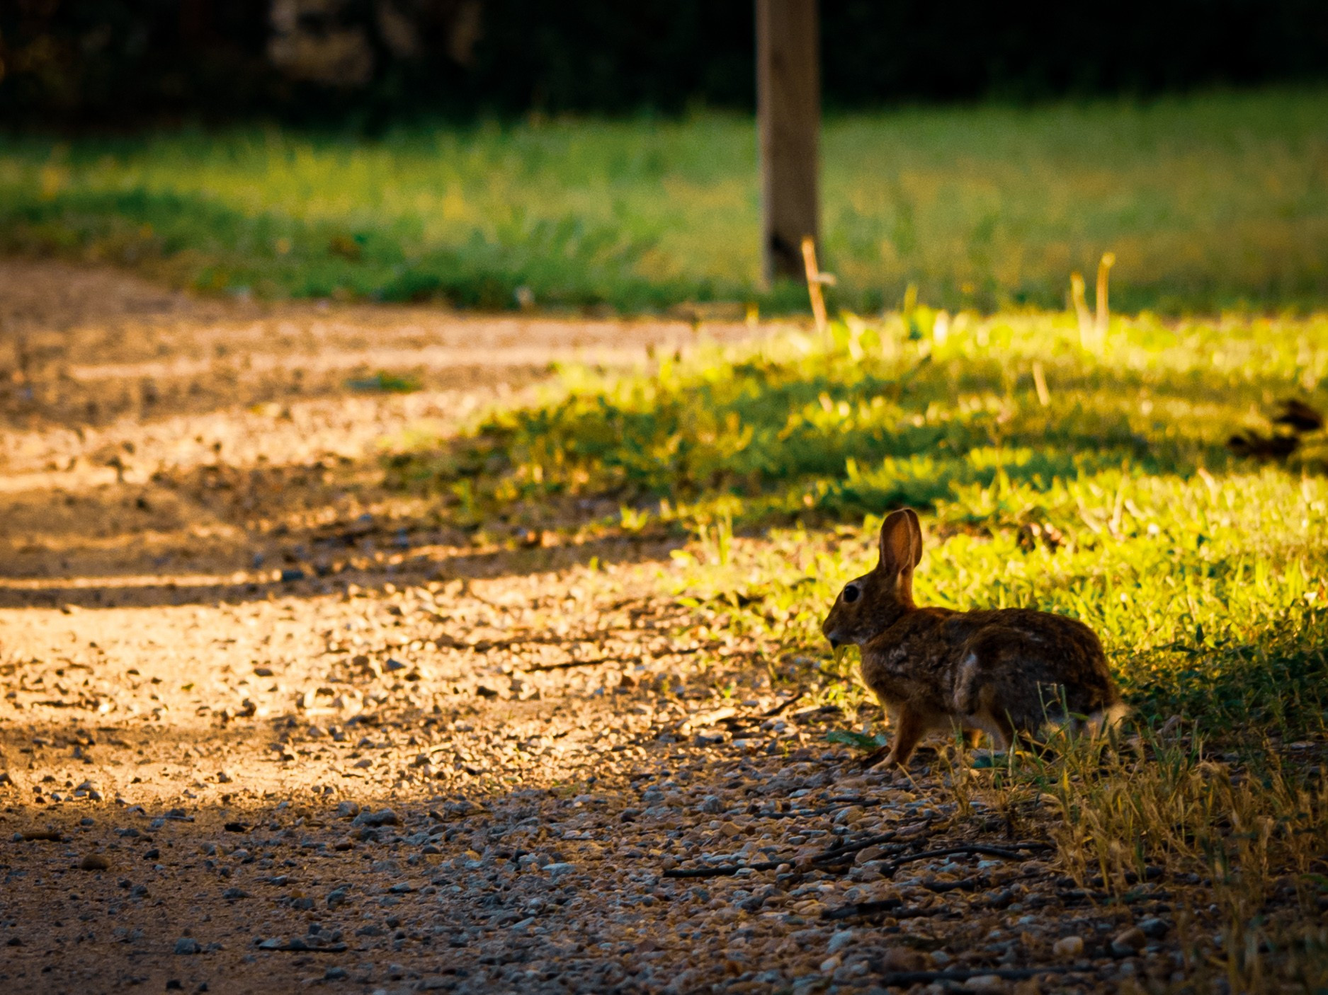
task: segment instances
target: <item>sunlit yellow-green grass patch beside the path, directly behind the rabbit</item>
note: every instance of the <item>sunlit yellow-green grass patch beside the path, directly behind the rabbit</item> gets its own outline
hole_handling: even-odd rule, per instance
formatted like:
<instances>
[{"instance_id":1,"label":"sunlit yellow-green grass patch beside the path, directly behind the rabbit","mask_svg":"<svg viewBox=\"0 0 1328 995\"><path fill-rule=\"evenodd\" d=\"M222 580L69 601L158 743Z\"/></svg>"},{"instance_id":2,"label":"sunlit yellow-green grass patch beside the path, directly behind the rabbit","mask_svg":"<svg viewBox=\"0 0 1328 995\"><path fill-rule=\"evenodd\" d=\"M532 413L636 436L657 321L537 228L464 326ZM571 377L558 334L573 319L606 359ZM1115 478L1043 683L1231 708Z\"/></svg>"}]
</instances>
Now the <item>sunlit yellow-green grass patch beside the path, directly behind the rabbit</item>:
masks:
<instances>
[{"instance_id":1,"label":"sunlit yellow-green grass patch beside the path, directly behind the rabbit","mask_svg":"<svg viewBox=\"0 0 1328 995\"><path fill-rule=\"evenodd\" d=\"M920 336L919 336L920 329ZM1032 367L1045 370L1044 405ZM1328 318L1117 318L1081 348L1056 313L932 313L701 346L656 370L567 371L535 406L393 459L458 520L614 515L588 532L691 536L676 590L772 659L818 659L819 621L874 560L887 509L922 509L922 604L1031 605L1101 633L1146 722L1292 739L1328 708L1328 476L1230 455L1283 397L1323 402ZM1035 528L1036 527L1036 528ZM1048 537L1052 537L1050 540Z\"/></svg>"}]
</instances>

